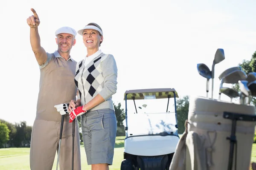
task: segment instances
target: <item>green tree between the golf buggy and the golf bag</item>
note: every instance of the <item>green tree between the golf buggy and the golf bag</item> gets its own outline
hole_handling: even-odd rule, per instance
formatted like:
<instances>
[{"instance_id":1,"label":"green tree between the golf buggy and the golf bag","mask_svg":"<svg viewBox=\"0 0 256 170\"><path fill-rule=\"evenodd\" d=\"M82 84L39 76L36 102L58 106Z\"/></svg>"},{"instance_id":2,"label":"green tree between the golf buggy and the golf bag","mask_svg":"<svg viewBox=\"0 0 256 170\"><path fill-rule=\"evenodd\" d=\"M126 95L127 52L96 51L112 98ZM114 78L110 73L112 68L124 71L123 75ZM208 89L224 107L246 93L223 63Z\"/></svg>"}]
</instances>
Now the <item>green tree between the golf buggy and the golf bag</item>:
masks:
<instances>
[{"instance_id":1,"label":"green tree between the golf buggy and the golf bag","mask_svg":"<svg viewBox=\"0 0 256 170\"><path fill-rule=\"evenodd\" d=\"M185 121L189 114L189 96L184 96L182 99L177 99L177 121L178 133L185 131Z\"/></svg>"}]
</instances>

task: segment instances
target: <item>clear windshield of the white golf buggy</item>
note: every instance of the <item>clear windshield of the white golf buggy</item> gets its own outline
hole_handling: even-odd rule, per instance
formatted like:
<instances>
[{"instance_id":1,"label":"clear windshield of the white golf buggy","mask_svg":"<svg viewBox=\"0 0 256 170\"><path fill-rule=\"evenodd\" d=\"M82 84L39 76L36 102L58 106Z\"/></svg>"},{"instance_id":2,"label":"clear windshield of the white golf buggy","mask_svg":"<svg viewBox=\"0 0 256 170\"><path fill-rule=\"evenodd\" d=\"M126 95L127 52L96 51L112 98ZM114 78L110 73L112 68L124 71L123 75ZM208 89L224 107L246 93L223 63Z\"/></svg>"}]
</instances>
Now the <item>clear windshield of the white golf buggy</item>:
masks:
<instances>
[{"instance_id":1,"label":"clear windshield of the white golf buggy","mask_svg":"<svg viewBox=\"0 0 256 170\"><path fill-rule=\"evenodd\" d=\"M166 112L167 103L168 99L135 100L135 109L134 101L128 100L128 136L158 134L161 132L177 134L174 99L170 99L168 111ZM125 120L123 125L126 126Z\"/></svg>"}]
</instances>

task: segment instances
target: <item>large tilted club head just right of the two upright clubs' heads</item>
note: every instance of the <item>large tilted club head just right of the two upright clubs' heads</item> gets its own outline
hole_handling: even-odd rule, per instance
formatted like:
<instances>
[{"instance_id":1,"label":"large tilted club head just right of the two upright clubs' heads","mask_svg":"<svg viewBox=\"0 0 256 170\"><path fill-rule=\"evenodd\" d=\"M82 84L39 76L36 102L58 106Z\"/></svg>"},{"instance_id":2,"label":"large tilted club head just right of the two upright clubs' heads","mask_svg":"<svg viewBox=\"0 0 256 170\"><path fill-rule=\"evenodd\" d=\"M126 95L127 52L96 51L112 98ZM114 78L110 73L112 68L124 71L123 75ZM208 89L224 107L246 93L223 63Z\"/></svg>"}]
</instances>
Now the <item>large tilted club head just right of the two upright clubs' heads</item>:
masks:
<instances>
[{"instance_id":1,"label":"large tilted club head just right of the two upright clubs' heads","mask_svg":"<svg viewBox=\"0 0 256 170\"><path fill-rule=\"evenodd\" d=\"M223 83L234 84L239 80L245 80L247 78L246 73L242 70L235 70L233 72L228 73L225 77L223 77Z\"/></svg>"}]
</instances>

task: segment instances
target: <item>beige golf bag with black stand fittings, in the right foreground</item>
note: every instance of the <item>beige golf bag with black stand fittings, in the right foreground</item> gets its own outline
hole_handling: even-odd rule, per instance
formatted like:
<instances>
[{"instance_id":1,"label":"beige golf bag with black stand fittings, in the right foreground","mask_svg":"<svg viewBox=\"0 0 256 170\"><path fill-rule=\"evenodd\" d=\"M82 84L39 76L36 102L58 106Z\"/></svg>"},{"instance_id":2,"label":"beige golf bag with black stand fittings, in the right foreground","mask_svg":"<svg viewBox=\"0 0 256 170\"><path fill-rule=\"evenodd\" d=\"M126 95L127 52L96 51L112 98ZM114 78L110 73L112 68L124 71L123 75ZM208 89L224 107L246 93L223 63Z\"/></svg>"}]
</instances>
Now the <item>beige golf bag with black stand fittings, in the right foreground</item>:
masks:
<instances>
[{"instance_id":1,"label":"beige golf bag with black stand fittings, in the right foreground","mask_svg":"<svg viewBox=\"0 0 256 170\"><path fill-rule=\"evenodd\" d=\"M169 170L249 170L255 121L254 106L191 98Z\"/></svg>"}]
</instances>

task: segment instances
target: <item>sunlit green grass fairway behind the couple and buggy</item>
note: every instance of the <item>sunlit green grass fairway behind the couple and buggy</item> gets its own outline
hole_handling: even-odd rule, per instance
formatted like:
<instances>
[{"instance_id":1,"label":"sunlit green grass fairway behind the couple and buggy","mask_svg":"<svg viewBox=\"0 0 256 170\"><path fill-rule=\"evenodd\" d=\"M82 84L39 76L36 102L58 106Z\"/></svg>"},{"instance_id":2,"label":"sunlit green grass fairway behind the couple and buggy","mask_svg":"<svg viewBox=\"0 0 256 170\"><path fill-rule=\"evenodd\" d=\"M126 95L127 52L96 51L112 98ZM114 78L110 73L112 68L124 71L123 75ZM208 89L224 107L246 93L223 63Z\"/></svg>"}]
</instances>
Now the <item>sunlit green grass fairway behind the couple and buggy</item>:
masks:
<instances>
[{"instance_id":1,"label":"sunlit green grass fairway behind the couple and buggy","mask_svg":"<svg viewBox=\"0 0 256 170\"><path fill-rule=\"evenodd\" d=\"M116 146L113 165L110 170L120 170L124 151L124 136L116 137ZM56 159L52 170L56 169ZM253 144L251 161L256 161L256 144ZM87 165L84 146L81 146L81 166L82 170L90 170ZM0 170L29 170L29 148L6 148L0 149Z\"/></svg>"}]
</instances>

